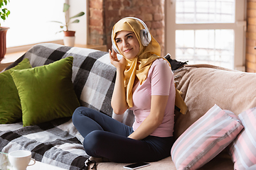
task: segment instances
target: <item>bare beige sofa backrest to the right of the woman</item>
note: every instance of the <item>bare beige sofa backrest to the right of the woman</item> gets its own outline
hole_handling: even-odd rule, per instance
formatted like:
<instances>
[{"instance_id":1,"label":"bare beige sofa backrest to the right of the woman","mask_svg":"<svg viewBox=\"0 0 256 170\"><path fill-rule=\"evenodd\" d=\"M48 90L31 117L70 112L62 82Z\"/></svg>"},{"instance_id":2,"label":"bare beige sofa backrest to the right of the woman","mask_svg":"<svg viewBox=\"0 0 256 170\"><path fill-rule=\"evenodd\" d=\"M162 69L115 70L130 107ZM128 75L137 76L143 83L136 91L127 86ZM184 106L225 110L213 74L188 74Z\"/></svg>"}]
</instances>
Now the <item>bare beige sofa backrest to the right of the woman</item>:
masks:
<instances>
[{"instance_id":1,"label":"bare beige sofa backrest to the right of the woman","mask_svg":"<svg viewBox=\"0 0 256 170\"><path fill-rule=\"evenodd\" d=\"M188 113L176 112L174 137L178 138L215 104L238 115L256 106L256 74L215 67L186 65L175 72L177 89L188 106Z\"/></svg>"}]
</instances>

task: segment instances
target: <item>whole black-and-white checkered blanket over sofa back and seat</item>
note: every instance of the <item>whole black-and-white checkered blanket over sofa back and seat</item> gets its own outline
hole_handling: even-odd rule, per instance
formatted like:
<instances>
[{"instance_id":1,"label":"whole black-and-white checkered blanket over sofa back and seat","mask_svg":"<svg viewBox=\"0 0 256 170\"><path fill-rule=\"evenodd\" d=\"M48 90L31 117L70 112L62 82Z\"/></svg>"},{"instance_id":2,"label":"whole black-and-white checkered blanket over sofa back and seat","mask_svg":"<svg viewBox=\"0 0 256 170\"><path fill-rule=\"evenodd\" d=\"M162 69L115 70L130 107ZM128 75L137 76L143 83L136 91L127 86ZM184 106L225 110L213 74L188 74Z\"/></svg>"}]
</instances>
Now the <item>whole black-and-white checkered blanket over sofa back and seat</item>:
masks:
<instances>
[{"instance_id":1,"label":"whole black-and-white checkered blanket over sofa back and seat","mask_svg":"<svg viewBox=\"0 0 256 170\"><path fill-rule=\"evenodd\" d=\"M73 85L81 106L112 116L110 104L115 68L107 52L51 43L35 45L6 69L28 58L32 67L50 64L73 56ZM41 125L22 127L22 123L0 125L0 151L31 150L39 162L65 169L80 169L88 158L81 144L82 136L70 118Z\"/></svg>"}]
</instances>

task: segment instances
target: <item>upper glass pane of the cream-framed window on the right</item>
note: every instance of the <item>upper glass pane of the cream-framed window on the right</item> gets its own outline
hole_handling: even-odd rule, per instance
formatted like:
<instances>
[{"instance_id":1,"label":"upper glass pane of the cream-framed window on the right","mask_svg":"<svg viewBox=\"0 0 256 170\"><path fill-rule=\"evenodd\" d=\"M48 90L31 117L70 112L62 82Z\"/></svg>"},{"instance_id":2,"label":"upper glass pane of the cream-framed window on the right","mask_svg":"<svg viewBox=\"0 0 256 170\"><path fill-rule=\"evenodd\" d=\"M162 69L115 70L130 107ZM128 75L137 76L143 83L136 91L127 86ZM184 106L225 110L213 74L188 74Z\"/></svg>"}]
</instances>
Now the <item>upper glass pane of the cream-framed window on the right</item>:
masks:
<instances>
[{"instance_id":1,"label":"upper glass pane of the cream-framed window on the right","mask_svg":"<svg viewBox=\"0 0 256 170\"><path fill-rule=\"evenodd\" d=\"M235 0L176 0L176 23L234 23Z\"/></svg>"}]
</instances>

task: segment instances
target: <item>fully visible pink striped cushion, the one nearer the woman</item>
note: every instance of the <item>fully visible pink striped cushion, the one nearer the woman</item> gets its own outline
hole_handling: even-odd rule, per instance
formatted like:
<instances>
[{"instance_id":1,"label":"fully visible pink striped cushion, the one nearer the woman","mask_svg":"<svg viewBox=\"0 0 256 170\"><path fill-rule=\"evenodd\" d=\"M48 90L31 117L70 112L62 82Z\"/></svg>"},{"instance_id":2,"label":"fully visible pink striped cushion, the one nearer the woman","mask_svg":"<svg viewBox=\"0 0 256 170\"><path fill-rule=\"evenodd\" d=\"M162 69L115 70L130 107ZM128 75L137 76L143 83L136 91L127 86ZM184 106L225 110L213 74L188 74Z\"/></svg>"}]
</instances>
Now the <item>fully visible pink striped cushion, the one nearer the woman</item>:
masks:
<instances>
[{"instance_id":1,"label":"fully visible pink striped cushion, the one nearer the woman","mask_svg":"<svg viewBox=\"0 0 256 170\"><path fill-rule=\"evenodd\" d=\"M234 113L213 106L174 142L171 158L176 169L192 170L203 166L225 149L242 129Z\"/></svg>"}]
</instances>

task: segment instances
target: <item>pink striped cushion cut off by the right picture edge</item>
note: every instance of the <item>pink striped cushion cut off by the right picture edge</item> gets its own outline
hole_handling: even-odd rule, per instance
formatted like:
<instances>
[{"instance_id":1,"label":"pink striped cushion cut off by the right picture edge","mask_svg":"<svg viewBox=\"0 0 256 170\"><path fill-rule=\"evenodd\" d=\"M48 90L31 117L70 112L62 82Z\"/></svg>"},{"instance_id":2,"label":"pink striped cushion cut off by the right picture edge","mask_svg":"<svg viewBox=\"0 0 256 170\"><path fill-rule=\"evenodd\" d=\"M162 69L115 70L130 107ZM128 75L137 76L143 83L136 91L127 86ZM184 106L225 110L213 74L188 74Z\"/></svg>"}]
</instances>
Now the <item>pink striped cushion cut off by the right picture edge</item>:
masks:
<instances>
[{"instance_id":1,"label":"pink striped cushion cut off by the right picture edge","mask_svg":"<svg viewBox=\"0 0 256 170\"><path fill-rule=\"evenodd\" d=\"M256 108L242 112L238 115L244 130L229 147L234 162L234 169L247 169L256 164Z\"/></svg>"}]
</instances>

